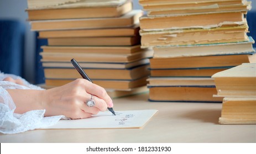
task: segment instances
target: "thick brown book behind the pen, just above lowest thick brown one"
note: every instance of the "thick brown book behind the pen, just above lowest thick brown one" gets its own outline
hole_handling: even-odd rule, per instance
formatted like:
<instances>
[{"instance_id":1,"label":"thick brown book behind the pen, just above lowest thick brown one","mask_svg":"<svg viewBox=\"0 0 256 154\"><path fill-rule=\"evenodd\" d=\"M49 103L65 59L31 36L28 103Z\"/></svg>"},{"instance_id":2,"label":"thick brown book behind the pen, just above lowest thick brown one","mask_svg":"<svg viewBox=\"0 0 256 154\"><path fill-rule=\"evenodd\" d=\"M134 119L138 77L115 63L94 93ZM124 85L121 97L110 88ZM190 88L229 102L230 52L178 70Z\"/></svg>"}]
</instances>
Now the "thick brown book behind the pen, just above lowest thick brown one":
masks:
<instances>
[{"instance_id":1,"label":"thick brown book behind the pen, just above lowest thick brown one","mask_svg":"<svg viewBox=\"0 0 256 154\"><path fill-rule=\"evenodd\" d=\"M135 80L143 76L149 76L148 65L141 65L129 69L101 69L83 68L86 74L93 79L102 80ZM77 79L81 75L75 68L44 68L46 79Z\"/></svg>"}]
</instances>

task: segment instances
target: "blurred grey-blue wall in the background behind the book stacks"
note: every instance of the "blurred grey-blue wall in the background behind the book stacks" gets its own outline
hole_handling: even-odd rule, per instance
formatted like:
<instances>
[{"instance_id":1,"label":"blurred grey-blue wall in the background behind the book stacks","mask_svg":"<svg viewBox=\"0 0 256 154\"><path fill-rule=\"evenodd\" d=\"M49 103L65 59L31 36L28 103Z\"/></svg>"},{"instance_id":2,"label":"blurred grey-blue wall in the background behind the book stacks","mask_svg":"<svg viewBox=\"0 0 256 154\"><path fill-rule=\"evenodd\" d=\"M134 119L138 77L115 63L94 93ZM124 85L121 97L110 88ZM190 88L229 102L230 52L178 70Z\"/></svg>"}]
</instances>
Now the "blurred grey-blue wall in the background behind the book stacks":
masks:
<instances>
[{"instance_id":1,"label":"blurred grey-blue wall in the background behind the book stacks","mask_svg":"<svg viewBox=\"0 0 256 154\"><path fill-rule=\"evenodd\" d=\"M43 1L43 0L42 0ZM134 9L142 9L138 0L133 0ZM24 71L25 79L34 83L35 75L35 32L30 31L30 25L27 21L28 14L25 12L27 0L0 0L0 18L17 19L26 26L25 33L25 55ZM256 0L252 0L252 10L256 10Z\"/></svg>"}]
</instances>

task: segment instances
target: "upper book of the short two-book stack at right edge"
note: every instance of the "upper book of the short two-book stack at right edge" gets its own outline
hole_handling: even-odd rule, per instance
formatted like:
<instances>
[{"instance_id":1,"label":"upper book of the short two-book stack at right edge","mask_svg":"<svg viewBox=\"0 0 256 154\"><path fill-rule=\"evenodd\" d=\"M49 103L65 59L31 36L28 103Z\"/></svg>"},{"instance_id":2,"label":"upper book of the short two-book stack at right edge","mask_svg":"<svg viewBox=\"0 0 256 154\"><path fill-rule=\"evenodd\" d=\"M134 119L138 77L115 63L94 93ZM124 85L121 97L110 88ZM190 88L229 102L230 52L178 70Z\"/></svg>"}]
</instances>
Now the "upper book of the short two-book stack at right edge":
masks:
<instances>
[{"instance_id":1,"label":"upper book of the short two-book stack at right edge","mask_svg":"<svg viewBox=\"0 0 256 154\"><path fill-rule=\"evenodd\" d=\"M256 63L244 63L212 75L217 96L256 97Z\"/></svg>"}]
</instances>

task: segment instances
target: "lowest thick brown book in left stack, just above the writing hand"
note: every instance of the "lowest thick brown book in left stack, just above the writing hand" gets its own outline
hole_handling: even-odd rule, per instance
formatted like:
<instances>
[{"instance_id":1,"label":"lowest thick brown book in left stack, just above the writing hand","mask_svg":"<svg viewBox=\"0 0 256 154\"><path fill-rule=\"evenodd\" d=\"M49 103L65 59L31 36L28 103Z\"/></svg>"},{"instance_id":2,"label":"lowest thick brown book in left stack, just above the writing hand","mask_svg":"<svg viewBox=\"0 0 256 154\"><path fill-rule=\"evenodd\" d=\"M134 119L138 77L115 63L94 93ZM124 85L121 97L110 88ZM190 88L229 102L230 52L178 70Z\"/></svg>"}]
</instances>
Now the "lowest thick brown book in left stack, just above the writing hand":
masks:
<instances>
[{"instance_id":1,"label":"lowest thick brown book in left stack, just above the writing hand","mask_svg":"<svg viewBox=\"0 0 256 154\"><path fill-rule=\"evenodd\" d=\"M127 90L147 84L147 77L137 80L92 80L94 84L102 86L105 89ZM46 86L62 86L73 80L67 79L45 79Z\"/></svg>"}]
</instances>

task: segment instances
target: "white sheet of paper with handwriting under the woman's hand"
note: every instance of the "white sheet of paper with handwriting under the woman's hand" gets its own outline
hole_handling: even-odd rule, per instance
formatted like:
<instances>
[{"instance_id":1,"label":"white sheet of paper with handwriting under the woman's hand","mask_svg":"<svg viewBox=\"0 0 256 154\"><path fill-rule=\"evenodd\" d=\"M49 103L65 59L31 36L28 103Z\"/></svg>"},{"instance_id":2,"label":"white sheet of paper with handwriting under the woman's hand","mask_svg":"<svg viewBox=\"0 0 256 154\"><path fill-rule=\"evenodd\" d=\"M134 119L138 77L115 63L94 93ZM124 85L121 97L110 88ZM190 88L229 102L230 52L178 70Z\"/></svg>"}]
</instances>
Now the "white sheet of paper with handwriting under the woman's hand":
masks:
<instances>
[{"instance_id":1,"label":"white sheet of paper with handwriting under the woman's hand","mask_svg":"<svg viewBox=\"0 0 256 154\"><path fill-rule=\"evenodd\" d=\"M155 109L100 112L91 118L76 120L59 120L51 127L44 129L103 129L103 128L142 128L156 112Z\"/></svg>"}]
</instances>

